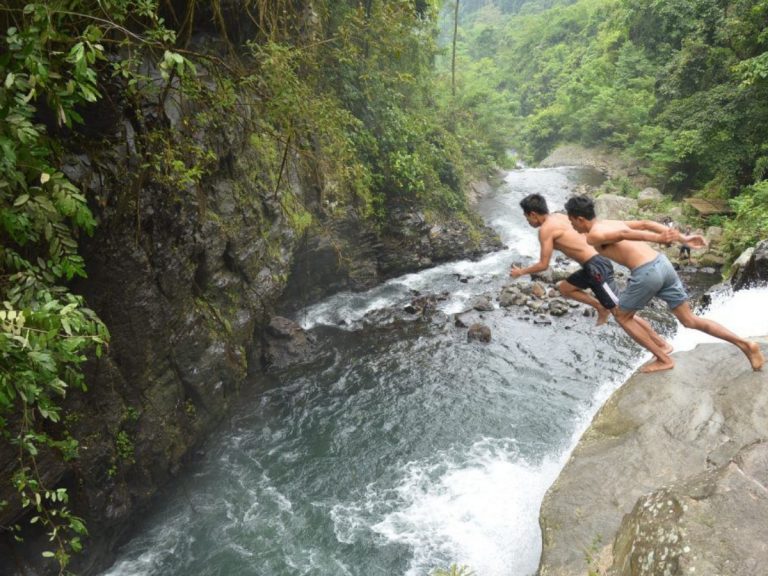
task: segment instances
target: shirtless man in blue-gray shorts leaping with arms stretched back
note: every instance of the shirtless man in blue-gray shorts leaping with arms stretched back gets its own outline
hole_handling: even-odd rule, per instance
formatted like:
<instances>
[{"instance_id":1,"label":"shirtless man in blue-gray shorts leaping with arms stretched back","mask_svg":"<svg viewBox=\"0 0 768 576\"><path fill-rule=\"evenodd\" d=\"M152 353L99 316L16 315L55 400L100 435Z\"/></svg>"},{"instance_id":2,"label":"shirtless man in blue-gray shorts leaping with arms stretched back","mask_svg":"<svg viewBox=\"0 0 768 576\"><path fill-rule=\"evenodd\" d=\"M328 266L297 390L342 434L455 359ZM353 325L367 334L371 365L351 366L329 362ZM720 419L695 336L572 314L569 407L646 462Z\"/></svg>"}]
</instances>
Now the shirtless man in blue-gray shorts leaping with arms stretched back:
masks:
<instances>
[{"instance_id":1,"label":"shirtless man in blue-gray shorts leaping with arms stretched back","mask_svg":"<svg viewBox=\"0 0 768 576\"><path fill-rule=\"evenodd\" d=\"M669 370L675 365L668 352L649 338L645 331L637 330L631 322L635 313L642 310L654 296L664 300L672 314L686 328L694 328L730 342L746 355L753 370L763 367L765 359L757 343L740 338L717 322L694 315L688 305L688 294L669 259L646 244L683 242L693 248L701 248L706 246L704 238L700 235L685 236L679 230L649 220L598 220L594 203L586 196L574 196L566 202L565 209L574 229L586 235L587 243L603 256L632 271L629 283L621 293L615 316L616 321L635 341L656 356L656 360L643 366L641 372Z\"/></svg>"}]
</instances>

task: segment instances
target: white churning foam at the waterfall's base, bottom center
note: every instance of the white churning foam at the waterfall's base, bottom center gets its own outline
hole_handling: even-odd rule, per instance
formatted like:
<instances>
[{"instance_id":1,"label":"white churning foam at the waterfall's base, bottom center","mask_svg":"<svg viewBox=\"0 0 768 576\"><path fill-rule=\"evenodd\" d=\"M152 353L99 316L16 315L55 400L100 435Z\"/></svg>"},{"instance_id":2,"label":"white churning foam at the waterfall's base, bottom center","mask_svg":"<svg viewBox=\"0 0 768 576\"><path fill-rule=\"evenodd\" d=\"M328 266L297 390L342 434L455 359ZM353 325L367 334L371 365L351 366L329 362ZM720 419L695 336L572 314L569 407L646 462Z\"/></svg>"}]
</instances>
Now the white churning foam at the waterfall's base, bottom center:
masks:
<instances>
[{"instance_id":1,"label":"white churning foam at the waterfall's base, bottom center","mask_svg":"<svg viewBox=\"0 0 768 576\"><path fill-rule=\"evenodd\" d=\"M412 462L394 488L369 487L364 501L334 507L336 537L352 544L373 532L412 553L405 576L451 563L483 576L532 574L538 566L538 510L561 465L528 463L514 441L485 439L463 456ZM443 566L436 558L445 558Z\"/></svg>"}]
</instances>

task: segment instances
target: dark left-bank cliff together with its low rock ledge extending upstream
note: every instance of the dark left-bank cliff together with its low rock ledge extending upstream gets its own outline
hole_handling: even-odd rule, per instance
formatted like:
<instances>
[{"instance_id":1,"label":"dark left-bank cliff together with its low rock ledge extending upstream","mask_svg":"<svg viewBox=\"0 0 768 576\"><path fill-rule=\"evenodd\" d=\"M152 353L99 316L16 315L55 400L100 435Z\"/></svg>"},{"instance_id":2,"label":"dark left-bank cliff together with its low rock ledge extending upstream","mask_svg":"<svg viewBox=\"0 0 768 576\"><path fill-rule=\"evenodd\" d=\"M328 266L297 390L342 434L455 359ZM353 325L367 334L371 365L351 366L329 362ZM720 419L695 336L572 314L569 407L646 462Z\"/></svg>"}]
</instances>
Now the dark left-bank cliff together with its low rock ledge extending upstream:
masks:
<instances>
[{"instance_id":1,"label":"dark left-bank cliff together with its low rock ledge extending upstream","mask_svg":"<svg viewBox=\"0 0 768 576\"><path fill-rule=\"evenodd\" d=\"M89 277L75 290L106 323L111 344L87 366L89 391L69 395L56 432L79 441L79 457L40 456L46 485L68 489L90 531L72 566L78 574L110 560L137 513L194 458L241 387L259 385L274 362L270 320L284 292L283 304L298 308L500 246L482 227L457 221L435 229L412 216L380 233L350 214L319 220L301 236L280 198L264 190L261 159L234 126L220 137L218 168L198 189L153 182L126 189L141 160L120 137L130 122L113 120L119 144L73 156L65 168L96 199L99 227L82 240ZM300 169L288 172L303 198ZM41 560L47 537L28 529L11 485L16 456L0 445L0 501L9 502L0 525L18 522L24 542L0 534L0 574L56 573L54 562Z\"/></svg>"}]
</instances>

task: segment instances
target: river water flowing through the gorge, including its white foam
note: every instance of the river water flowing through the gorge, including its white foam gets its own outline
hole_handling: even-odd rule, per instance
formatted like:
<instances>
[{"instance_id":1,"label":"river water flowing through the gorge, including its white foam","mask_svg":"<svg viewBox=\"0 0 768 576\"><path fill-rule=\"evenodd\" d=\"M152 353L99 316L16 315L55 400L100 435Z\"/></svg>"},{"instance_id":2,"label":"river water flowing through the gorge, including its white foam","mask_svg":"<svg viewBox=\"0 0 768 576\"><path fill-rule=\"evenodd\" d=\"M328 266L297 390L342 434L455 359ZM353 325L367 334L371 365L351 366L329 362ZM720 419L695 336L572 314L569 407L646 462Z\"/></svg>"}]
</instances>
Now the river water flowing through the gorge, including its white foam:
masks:
<instances>
[{"instance_id":1,"label":"river water flowing through the gorge, including its white foam","mask_svg":"<svg viewBox=\"0 0 768 576\"><path fill-rule=\"evenodd\" d=\"M246 394L104 575L427 576L454 562L477 576L535 573L546 489L645 357L613 321L598 328L578 313L543 325L497 309L484 318L487 345L452 322L365 317L414 291L447 292L446 314L498 294L511 263L538 254L519 200L541 192L557 209L594 177L511 172L480 205L508 250L299 312L320 359ZM737 328L766 331L761 322ZM697 341L685 332L678 348Z\"/></svg>"}]
</instances>

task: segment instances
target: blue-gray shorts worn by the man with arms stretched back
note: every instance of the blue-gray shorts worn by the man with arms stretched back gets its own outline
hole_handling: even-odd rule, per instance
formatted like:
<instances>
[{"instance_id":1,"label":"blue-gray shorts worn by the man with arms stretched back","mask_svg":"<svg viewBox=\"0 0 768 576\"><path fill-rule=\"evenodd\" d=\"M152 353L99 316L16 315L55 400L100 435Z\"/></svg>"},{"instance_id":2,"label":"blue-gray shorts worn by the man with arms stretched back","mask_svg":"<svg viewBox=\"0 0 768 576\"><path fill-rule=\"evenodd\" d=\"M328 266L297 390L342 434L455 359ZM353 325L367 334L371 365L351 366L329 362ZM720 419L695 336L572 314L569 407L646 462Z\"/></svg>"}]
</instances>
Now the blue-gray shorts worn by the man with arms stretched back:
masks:
<instances>
[{"instance_id":1,"label":"blue-gray shorts worn by the man with arms stretched back","mask_svg":"<svg viewBox=\"0 0 768 576\"><path fill-rule=\"evenodd\" d=\"M670 309L688 300L680 277L664 254L632 270L627 287L619 297L619 308L642 310L654 296L664 300Z\"/></svg>"}]
</instances>

